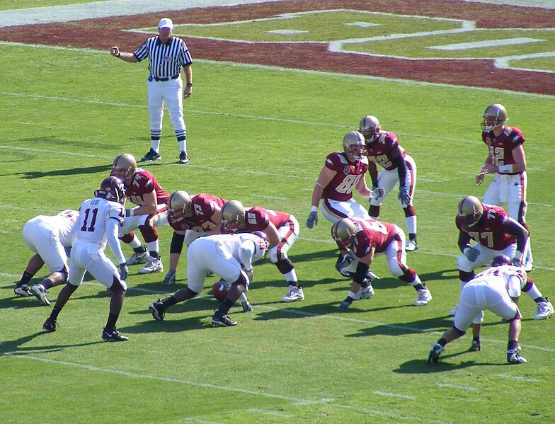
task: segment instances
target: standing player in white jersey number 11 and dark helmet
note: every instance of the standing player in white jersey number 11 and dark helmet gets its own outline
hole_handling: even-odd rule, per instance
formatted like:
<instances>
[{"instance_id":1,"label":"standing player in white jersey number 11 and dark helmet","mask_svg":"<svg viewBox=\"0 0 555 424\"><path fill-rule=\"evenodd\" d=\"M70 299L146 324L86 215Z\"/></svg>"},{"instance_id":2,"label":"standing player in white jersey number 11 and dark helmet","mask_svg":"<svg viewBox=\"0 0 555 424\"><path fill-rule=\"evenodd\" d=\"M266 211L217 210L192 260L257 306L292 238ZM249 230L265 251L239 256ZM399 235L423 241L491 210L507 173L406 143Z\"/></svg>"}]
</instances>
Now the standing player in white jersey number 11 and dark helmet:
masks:
<instances>
[{"instance_id":1,"label":"standing player in white jersey number 11 and dark helmet","mask_svg":"<svg viewBox=\"0 0 555 424\"><path fill-rule=\"evenodd\" d=\"M81 285L85 272L88 271L112 292L110 314L102 338L107 342L121 342L127 340L127 337L115 329L115 323L120 316L127 290L125 278L128 273L118 239L120 225L125 218L123 182L114 176L105 178L101 188L95 190L94 195L93 199L85 200L79 208L79 219L75 224L76 241L71 249L68 284L59 292L52 313L42 328L48 333L56 331L59 312L71 294ZM119 268L116 268L104 253L107 242L120 263Z\"/></svg>"}]
</instances>

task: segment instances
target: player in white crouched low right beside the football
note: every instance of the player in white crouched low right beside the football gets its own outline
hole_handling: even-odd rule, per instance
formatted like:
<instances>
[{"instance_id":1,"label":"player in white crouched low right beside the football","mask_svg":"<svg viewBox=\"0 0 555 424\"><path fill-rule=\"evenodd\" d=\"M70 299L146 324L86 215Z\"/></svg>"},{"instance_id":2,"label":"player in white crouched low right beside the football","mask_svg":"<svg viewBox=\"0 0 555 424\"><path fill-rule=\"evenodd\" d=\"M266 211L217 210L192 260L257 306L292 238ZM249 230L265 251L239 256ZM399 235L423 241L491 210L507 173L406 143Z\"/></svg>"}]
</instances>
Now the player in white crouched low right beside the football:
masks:
<instances>
[{"instance_id":1,"label":"player in white crouched low right beside the football","mask_svg":"<svg viewBox=\"0 0 555 424\"><path fill-rule=\"evenodd\" d=\"M229 286L226 299L212 316L212 323L220 327L235 326L236 321L229 319L227 312L240 297L243 311L252 310L244 292L253 277L253 262L263 258L268 245L268 236L262 231L199 237L187 249L187 287L151 304L152 317L162 321L169 306L197 296L202 291L207 271L212 271Z\"/></svg>"}]
</instances>

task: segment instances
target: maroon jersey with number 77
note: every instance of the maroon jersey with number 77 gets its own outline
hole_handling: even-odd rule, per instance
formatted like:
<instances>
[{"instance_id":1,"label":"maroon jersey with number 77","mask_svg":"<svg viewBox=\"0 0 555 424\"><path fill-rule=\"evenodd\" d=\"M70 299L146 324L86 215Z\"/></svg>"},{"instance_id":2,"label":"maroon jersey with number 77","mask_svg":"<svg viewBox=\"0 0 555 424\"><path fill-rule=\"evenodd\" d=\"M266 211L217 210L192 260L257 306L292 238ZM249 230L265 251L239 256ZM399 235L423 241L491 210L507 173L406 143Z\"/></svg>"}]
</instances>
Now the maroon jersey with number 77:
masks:
<instances>
[{"instance_id":1,"label":"maroon jersey with number 77","mask_svg":"<svg viewBox=\"0 0 555 424\"><path fill-rule=\"evenodd\" d=\"M482 217L474 227L471 227L469 231L465 231L462 221L457 217L455 219L457 228L467 233L477 243L495 251L502 251L504 248L516 243L517 239L515 236L506 234L503 231L503 226L509 219L509 214L505 212L503 207L482 206L484 207L484 214L482 214Z\"/></svg>"}]
</instances>

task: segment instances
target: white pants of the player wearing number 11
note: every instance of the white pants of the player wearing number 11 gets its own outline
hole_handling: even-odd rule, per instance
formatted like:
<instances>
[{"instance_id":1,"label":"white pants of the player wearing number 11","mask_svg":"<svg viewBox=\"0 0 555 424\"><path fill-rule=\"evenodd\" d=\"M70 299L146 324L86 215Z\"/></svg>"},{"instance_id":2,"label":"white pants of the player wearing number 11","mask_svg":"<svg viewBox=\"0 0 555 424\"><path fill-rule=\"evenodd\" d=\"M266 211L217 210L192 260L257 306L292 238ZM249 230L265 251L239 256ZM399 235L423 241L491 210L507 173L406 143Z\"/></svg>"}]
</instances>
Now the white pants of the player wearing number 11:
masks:
<instances>
[{"instance_id":1,"label":"white pants of the player wearing number 11","mask_svg":"<svg viewBox=\"0 0 555 424\"><path fill-rule=\"evenodd\" d=\"M112 287L115 278L120 281L123 289L127 290L125 281L120 280L118 268L108 259L104 251L99 251L98 246L90 243L76 243L71 249L69 263L71 285L81 285L86 271L108 288Z\"/></svg>"}]
</instances>

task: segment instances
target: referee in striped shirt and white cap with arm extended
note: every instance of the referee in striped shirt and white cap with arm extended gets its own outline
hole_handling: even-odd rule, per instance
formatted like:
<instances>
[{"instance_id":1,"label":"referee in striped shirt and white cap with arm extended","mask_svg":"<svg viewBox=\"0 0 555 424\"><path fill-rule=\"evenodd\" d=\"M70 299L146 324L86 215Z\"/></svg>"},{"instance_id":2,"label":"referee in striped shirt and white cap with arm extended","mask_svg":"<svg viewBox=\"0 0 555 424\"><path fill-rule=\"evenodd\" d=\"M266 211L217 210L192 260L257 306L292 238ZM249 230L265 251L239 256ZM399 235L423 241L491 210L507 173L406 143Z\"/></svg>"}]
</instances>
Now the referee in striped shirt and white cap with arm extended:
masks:
<instances>
[{"instance_id":1,"label":"referee in striped shirt and white cap with arm extended","mask_svg":"<svg viewBox=\"0 0 555 424\"><path fill-rule=\"evenodd\" d=\"M160 156L160 136L162 133L162 118L164 117L164 103L171 118L173 130L179 145L178 164L188 164L187 130L183 119L183 98L188 98L193 92L193 59L181 38L173 36L173 22L170 18L161 18L158 23L158 36L146 40L135 53L120 52L118 46L112 47L110 54L125 62L141 62L149 58L149 78L147 87L149 93L150 116L150 150L140 160L141 162L158 161ZM185 75L185 89L181 79L181 68Z\"/></svg>"}]
</instances>

